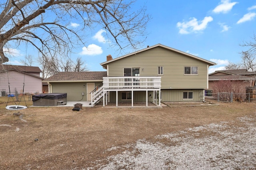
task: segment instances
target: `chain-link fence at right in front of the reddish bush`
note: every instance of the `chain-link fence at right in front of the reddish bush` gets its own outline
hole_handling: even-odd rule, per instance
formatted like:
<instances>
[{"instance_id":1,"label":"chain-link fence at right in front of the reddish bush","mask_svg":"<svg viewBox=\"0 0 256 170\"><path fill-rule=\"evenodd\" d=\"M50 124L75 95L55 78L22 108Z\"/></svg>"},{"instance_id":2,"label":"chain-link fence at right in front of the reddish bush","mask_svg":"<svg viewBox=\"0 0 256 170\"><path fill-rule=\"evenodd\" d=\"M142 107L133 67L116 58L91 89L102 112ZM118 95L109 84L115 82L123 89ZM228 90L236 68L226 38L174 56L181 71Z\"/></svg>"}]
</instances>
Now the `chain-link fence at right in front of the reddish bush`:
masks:
<instances>
[{"instance_id":1,"label":"chain-link fence at right in front of the reddish bush","mask_svg":"<svg viewBox=\"0 0 256 170\"><path fill-rule=\"evenodd\" d=\"M251 93L218 92L206 93L205 96L211 96L218 102L256 102L256 94Z\"/></svg>"}]
</instances>

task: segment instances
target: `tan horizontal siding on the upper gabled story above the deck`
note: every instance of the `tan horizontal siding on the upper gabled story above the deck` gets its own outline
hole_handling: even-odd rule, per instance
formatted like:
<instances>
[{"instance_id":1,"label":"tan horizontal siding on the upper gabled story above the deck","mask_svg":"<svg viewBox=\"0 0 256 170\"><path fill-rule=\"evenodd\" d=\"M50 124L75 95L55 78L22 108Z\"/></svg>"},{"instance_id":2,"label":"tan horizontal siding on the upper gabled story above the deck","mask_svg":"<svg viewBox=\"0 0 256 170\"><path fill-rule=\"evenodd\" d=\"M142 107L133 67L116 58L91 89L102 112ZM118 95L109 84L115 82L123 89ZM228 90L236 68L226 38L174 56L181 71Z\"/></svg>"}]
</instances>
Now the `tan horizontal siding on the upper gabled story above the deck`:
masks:
<instances>
[{"instance_id":1,"label":"tan horizontal siding on the upper gabled story above the deck","mask_svg":"<svg viewBox=\"0 0 256 170\"><path fill-rule=\"evenodd\" d=\"M207 63L161 47L108 63L108 76L123 76L123 68L140 68L140 76L158 76L158 66L164 67L162 89L207 88ZM184 75L184 66L198 66L198 75Z\"/></svg>"}]
</instances>

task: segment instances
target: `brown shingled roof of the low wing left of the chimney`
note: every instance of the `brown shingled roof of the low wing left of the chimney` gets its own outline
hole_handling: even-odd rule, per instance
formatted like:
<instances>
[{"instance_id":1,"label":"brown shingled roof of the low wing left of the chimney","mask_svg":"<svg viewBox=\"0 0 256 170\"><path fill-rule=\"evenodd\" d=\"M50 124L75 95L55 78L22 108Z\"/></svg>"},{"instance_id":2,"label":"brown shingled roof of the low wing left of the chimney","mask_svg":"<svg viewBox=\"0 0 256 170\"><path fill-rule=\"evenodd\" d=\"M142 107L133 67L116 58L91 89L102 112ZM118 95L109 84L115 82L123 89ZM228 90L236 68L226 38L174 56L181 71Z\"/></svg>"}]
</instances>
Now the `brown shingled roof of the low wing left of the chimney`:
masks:
<instances>
[{"instance_id":1,"label":"brown shingled roof of the low wing left of the chimney","mask_svg":"<svg viewBox=\"0 0 256 170\"><path fill-rule=\"evenodd\" d=\"M106 76L107 72L59 72L44 82L103 80L102 77Z\"/></svg>"}]
</instances>

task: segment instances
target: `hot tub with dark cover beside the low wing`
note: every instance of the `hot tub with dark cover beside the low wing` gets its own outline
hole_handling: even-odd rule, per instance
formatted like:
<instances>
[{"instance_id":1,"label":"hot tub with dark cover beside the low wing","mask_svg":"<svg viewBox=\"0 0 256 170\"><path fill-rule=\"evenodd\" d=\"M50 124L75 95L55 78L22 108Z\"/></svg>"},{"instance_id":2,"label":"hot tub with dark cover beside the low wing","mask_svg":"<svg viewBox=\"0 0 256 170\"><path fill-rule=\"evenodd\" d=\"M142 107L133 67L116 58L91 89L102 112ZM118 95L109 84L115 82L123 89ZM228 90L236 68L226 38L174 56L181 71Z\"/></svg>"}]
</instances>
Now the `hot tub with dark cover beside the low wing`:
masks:
<instances>
[{"instance_id":1,"label":"hot tub with dark cover beside the low wing","mask_svg":"<svg viewBox=\"0 0 256 170\"><path fill-rule=\"evenodd\" d=\"M58 101L67 102L66 93L44 93L32 96L33 106L57 106Z\"/></svg>"}]
</instances>

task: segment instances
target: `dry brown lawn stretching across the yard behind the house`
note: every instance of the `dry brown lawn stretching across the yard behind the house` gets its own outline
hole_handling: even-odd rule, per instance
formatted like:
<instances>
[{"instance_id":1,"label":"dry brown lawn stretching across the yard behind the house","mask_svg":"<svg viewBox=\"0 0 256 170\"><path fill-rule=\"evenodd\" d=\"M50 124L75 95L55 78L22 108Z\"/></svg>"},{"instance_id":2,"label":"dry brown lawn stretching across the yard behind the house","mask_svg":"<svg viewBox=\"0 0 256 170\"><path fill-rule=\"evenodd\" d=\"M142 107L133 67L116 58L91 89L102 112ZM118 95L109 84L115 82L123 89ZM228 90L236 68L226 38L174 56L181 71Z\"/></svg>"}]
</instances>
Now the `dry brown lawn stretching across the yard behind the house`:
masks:
<instances>
[{"instance_id":1,"label":"dry brown lawn stretching across the yard behind the house","mask_svg":"<svg viewBox=\"0 0 256 170\"><path fill-rule=\"evenodd\" d=\"M31 102L27 103L32 105ZM124 152L113 146L154 140L154 136L210 123L255 116L255 103L163 108L28 107L0 104L1 170L71 170L94 167L97 160ZM37 140L38 139L38 140Z\"/></svg>"}]
</instances>

